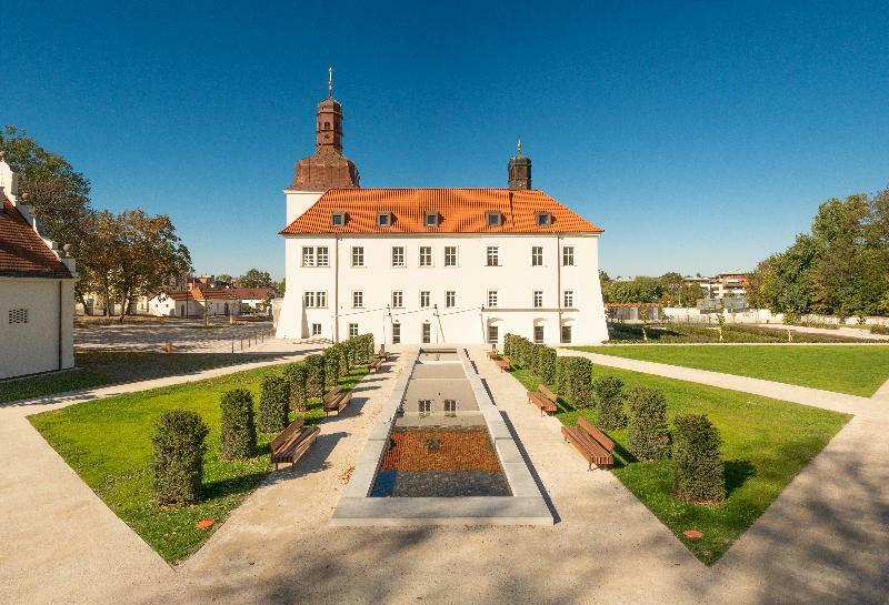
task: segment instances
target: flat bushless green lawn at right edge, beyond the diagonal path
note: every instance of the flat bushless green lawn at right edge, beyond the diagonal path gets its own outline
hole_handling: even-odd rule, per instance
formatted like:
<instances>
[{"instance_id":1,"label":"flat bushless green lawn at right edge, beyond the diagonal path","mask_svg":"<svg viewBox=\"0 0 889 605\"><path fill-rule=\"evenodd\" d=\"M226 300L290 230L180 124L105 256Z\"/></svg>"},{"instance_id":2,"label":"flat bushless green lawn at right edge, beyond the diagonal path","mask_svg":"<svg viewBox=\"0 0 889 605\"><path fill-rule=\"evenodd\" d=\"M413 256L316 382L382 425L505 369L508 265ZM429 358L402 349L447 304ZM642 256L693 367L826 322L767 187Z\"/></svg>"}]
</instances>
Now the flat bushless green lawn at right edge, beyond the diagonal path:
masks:
<instances>
[{"instance_id":1,"label":"flat bushless green lawn at right edge, beyond the diagonal path","mask_svg":"<svg viewBox=\"0 0 889 605\"><path fill-rule=\"evenodd\" d=\"M578 351L668 363L869 397L889 380L889 345L578 346Z\"/></svg>"}]
</instances>

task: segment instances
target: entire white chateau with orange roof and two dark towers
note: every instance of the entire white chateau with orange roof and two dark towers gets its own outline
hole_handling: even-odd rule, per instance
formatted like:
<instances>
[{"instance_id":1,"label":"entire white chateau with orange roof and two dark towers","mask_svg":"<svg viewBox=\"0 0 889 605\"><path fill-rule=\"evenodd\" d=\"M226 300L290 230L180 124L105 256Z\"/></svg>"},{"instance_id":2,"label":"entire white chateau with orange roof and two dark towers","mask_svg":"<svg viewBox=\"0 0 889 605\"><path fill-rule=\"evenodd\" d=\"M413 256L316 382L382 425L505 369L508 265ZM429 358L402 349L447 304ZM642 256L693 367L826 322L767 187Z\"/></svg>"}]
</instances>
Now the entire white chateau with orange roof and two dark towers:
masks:
<instances>
[{"instance_id":1,"label":"entire white chateau with orange roof and two dark towers","mask_svg":"<svg viewBox=\"0 0 889 605\"><path fill-rule=\"evenodd\" d=\"M602 230L531 189L509 160L505 189L361 189L342 155L342 105L318 105L314 153L287 195L287 294L278 337L377 343L608 340Z\"/></svg>"}]
</instances>

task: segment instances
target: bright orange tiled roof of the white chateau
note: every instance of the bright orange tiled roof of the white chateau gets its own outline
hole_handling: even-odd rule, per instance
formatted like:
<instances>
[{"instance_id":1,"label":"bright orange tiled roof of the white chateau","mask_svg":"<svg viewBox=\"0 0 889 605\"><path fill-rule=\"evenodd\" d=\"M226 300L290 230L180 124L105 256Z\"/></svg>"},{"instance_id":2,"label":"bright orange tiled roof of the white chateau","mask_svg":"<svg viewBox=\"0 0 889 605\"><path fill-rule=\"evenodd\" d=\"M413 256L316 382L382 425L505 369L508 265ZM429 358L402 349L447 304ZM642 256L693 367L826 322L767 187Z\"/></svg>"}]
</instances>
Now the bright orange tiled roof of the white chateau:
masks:
<instances>
[{"instance_id":1,"label":"bright orange tiled roof of the white chateau","mask_svg":"<svg viewBox=\"0 0 889 605\"><path fill-rule=\"evenodd\" d=\"M486 211L499 211L502 224L489 226ZM331 213L343 211L346 224L333 226ZM536 212L552 223L537 224ZM377 224L378 212L391 212L391 226ZM437 212L438 226L426 226ZM602 230L539 190L509 189L331 189L282 235L301 233L601 233Z\"/></svg>"}]
</instances>

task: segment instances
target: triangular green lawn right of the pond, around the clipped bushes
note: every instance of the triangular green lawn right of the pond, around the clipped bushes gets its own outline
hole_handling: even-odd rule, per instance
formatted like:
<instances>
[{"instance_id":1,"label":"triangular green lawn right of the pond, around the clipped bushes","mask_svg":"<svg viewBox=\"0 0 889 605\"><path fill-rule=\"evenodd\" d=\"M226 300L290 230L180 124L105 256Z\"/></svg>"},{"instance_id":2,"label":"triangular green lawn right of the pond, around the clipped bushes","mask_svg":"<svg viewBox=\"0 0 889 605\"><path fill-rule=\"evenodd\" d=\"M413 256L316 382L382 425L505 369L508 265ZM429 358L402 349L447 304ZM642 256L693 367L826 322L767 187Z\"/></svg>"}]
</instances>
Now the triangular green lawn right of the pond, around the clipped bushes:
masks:
<instances>
[{"instance_id":1,"label":"triangular green lawn right of the pond, around the clipped bushes","mask_svg":"<svg viewBox=\"0 0 889 605\"><path fill-rule=\"evenodd\" d=\"M728 491L720 506L696 506L673 498L669 461L637 462L625 448L625 432L610 433L617 443L615 475L708 565L725 554L851 417L737 391L593 367L593 377L606 374L619 376L628 389L662 391L668 421L678 414L707 414L719 428ZM516 370L513 375L527 389L539 384L527 370ZM596 422L592 410L571 410L561 400L559 404L557 416L565 424L576 424L579 414ZM686 530L699 530L703 537L689 540L682 535Z\"/></svg>"}]
</instances>

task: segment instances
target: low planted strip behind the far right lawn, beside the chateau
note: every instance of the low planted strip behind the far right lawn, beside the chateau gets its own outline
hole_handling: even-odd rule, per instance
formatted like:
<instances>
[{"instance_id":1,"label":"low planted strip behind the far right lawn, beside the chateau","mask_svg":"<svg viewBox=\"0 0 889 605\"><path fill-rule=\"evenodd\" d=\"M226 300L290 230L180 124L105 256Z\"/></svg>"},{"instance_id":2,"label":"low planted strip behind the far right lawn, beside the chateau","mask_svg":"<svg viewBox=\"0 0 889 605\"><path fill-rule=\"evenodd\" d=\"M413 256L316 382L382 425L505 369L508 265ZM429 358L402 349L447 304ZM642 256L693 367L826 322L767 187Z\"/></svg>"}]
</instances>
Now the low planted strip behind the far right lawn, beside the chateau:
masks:
<instances>
[{"instance_id":1,"label":"low planted strip behind the far right lawn, beside the chateau","mask_svg":"<svg viewBox=\"0 0 889 605\"><path fill-rule=\"evenodd\" d=\"M652 324L646 329L648 342L660 343L717 343L719 340L719 327L716 322L711 324L697 323L665 323ZM640 324L630 323L609 323L608 337L611 342L646 342ZM809 334L806 332L793 332L793 342L868 342L862 339L842 336L840 334ZM776 324L775 327L758 327L752 325L741 325L727 323L722 326L721 342L788 342L787 330ZM880 341L873 341L880 342Z\"/></svg>"}]
</instances>

